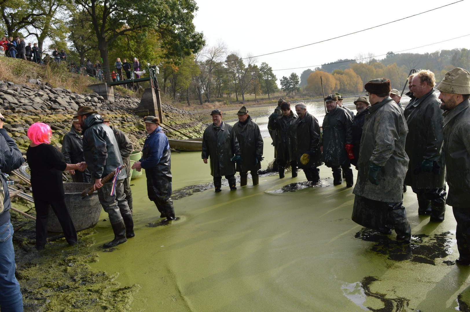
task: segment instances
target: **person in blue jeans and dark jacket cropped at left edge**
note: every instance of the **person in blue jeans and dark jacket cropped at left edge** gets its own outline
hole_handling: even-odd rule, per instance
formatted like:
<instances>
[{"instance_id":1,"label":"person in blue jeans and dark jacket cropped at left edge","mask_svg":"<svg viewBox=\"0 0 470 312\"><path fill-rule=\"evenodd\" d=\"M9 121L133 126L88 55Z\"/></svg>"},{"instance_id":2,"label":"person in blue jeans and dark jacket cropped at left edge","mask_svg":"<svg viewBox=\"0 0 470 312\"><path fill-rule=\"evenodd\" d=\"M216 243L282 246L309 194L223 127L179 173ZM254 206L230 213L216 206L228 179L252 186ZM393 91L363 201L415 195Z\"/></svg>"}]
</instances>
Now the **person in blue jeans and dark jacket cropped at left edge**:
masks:
<instances>
[{"instance_id":1,"label":"person in blue jeans and dark jacket cropped at left edge","mask_svg":"<svg viewBox=\"0 0 470 312\"><path fill-rule=\"evenodd\" d=\"M3 129L5 118L0 114L0 310L23 311L20 284L15 277L13 225L10 222L10 194L4 172L17 169L23 157L15 141Z\"/></svg>"}]
</instances>

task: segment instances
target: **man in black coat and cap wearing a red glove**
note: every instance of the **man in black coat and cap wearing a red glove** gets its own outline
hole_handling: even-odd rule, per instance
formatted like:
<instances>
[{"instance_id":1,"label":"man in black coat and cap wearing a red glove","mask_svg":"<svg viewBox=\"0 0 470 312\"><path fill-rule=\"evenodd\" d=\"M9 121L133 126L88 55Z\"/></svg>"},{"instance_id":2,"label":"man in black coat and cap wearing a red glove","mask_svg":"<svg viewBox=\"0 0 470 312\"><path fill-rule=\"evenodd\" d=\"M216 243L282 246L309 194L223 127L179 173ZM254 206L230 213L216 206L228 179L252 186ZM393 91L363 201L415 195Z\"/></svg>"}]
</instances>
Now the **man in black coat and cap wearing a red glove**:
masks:
<instances>
[{"instance_id":1,"label":"man in black coat and cap wearing a red glove","mask_svg":"<svg viewBox=\"0 0 470 312\"><path fill-rule=\"evenodd\" d=\"M345 174L346 187L352 187L352 119L346 110L339 107L338 97L330 94L325 98L327 113L323 118L321 161L333 172L333 184L340 185L341 169Z\"/></svg>"}]
</instances>

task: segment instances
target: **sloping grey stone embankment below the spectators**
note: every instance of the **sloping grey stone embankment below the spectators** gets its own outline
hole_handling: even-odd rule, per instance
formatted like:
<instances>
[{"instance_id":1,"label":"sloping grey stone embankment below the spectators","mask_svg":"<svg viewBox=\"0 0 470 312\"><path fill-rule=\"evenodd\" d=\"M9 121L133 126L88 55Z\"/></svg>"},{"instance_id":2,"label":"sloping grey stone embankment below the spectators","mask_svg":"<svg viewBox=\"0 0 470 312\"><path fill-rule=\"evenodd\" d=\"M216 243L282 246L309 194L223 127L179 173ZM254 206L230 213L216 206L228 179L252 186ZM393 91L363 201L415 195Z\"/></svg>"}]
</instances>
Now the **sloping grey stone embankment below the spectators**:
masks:
<instances>
[{"instance_id":1,"label":"sloping grey stone embankment below the spectators","mask_svg":"<svg viewBox=\"0 0 470 312\"><path fill-rule=\"evenodd\" d=\"M14 84L0 80L0 109L7 121L4 128L15 138L21 152L25 153L29 139L26 131L34 122L46 122L68 132L71 119L79 106L89 106L99 113L107 113L111 124L135 135L140 143L146 135L142 118L133 114L140 99L115 93L115 101L103 99L97 93L77 94L71 90L52 88L39 79L30 79L29 84ZM162 104L163 128L168 137L201 137L206 124L197 114ZM53 127L53 141L61 149L64 131Z\"/></svg>"}]
</instances>

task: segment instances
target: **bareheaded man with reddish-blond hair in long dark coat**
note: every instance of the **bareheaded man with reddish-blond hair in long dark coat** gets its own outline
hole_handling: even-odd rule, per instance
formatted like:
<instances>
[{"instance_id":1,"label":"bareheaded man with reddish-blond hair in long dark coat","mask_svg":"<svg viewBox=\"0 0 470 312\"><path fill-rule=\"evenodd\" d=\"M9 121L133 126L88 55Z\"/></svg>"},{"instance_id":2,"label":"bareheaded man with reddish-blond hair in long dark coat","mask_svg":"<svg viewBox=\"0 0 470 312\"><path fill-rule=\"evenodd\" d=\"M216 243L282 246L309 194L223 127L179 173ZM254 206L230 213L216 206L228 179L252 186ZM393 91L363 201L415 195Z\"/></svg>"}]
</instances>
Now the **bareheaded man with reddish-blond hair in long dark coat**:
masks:
<instances>
[{"instance_id":1,"label":"bareheaded man with reddish-blond hair in long dark coat","mask_svg":"<svg viewBox=\"0 0 470 312\"><path fill-rule=\"evenodd\" d=\"M415 100L405 108L408 135L405 152L409 157L405 184L418 198L418 214L430 221L444 221L446 210L445 164L441 157L444 133L440 101L434 90L436 79L430 70L420 70L413 78Z\"/></svg>"}]
</instances>

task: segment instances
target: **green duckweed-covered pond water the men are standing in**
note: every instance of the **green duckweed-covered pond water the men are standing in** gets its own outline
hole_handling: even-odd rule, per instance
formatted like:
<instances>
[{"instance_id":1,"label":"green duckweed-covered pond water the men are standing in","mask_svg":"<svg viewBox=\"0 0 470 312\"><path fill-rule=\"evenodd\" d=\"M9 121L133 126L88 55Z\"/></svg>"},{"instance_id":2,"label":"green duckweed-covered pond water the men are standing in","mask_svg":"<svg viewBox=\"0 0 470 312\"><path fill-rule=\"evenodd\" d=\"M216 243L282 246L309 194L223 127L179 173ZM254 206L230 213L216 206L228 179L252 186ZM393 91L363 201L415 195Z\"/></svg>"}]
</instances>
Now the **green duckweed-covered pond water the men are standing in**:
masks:
<instances>
[{"instance_id":1,"label":"green duckweed-covered pond water the men are standing in","mask_svg":"<svg viewBox=\"0 0 470 312\"><path fill-rule=\"evenodd\" d=\"M273 154L265 138L266 160ZM208 166L200 152L172 153L180 220L171 225L158 225L142 175L132 181L135 238L103 252L109 221L95 228L99 261L90 266L141 286L132 311L467 311L470 268L454 265L450 207L444 222L429 223L405 193L413 238L399 246L395 234L351 221L352 189L333 186L325 166L316 187L300 171L217 194Z\"/></svg>"}]
</instances>

